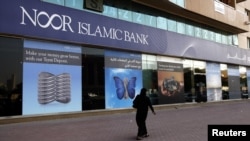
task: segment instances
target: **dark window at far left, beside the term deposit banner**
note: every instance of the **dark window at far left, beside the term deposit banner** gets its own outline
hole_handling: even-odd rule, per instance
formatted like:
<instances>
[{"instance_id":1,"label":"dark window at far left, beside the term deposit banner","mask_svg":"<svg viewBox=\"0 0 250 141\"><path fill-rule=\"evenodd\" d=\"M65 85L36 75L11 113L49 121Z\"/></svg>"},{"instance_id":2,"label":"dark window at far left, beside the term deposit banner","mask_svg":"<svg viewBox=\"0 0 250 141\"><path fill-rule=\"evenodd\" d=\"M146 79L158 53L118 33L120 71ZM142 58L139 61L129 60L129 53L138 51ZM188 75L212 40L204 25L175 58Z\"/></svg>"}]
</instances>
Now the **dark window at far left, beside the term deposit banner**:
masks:
<instances>
[{"instance_id":1,"label":"dark window at far left, beside the term deposit banner","mask_svg":"<svg viewBox=\"0 0 250 141\"><path fill-rule=\"evenodd\" d=\"M0 116L22 115L23 41L0 37Z\"/></svg>"}]
</instances>

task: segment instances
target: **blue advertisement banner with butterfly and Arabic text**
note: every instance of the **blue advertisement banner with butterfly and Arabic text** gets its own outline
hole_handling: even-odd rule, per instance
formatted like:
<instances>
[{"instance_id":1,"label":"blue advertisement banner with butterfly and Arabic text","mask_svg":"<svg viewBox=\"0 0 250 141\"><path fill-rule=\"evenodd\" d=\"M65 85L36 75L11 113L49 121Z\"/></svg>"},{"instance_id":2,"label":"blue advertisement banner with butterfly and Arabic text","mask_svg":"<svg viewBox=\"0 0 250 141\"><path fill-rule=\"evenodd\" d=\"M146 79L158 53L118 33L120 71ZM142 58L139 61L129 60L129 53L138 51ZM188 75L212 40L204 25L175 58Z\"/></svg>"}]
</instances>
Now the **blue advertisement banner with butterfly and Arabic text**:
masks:
<instances>
[{"instance_id":1,"label":"blue advertisement banner with butterfly and Arabic text","mask_svg":"<svg viewBox=\"0 0 250 141\"><path fill-rule=\"evenodd\" d=\"M105 107L129 108L142 88L141 54L105 51Z\"/></svg>"}]
</instances>

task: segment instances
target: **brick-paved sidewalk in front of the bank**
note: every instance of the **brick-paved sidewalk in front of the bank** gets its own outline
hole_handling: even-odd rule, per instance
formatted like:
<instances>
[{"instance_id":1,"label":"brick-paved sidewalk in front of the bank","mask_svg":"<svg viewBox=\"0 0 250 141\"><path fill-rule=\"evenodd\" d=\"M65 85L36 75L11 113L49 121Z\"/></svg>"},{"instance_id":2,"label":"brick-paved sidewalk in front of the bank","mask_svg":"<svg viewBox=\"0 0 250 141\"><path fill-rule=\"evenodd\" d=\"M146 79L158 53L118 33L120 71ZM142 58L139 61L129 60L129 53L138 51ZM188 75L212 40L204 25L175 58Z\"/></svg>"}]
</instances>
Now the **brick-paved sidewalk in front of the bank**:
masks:
<instances>
[{"instance_id":1,"label":"brick-paved sidewalk in front of the bank","mask_svg":"<svg viewBox=\"0 0 250 141\"><path fill-rule=\"evenodd\" d=\"M249 124L250 100L149 112L145 141L207 141L209 124ZM132 141L135 112L0 125L1 141Z\"/></svg>"}]
</instances>

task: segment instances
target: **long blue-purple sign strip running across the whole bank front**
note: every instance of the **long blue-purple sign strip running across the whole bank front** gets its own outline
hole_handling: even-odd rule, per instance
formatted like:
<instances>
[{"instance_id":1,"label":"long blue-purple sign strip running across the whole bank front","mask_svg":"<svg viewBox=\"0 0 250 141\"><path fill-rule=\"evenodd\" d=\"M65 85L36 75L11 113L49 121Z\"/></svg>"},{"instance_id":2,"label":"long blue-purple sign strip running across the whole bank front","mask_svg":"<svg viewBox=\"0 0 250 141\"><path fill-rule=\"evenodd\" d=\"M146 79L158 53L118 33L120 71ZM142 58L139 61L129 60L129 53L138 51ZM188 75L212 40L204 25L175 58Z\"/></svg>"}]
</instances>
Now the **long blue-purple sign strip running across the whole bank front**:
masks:
<instances>
[{"instance_id":1,"label":"long blue-purple sign strip running across the whole bank front","mask_svg":"<svg viewBox=\"0 0 250 141\"><path fill-rule=\"evenodd\" d=\"M250 65L250 51L41 0L1 0L0 34Z\"/></svg>"}]
</instances>

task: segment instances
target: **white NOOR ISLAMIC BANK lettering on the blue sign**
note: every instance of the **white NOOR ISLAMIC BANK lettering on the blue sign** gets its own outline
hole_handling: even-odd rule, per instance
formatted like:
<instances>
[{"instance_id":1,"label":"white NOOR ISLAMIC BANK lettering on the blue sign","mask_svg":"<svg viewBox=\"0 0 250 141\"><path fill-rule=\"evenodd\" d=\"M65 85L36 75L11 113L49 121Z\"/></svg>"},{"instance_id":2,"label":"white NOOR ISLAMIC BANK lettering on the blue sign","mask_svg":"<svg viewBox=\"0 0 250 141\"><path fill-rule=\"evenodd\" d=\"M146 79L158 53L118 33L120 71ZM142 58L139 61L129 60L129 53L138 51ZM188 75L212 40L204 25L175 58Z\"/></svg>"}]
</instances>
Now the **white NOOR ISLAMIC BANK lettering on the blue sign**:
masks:
<instances>
[{"instance_id":1,"label":"white NOOR ISLAMIC BANK lettering on the blue sign","mask_svg":"<svg viewBox=\"0 0 250 141\"><path fill-rule=\"evenodd\" d=\"M98 38L108 38L136 44L149 45L148 35L137 33L119 28L103 25L93 25L91 23L73 21L69 15L49 14L46 11L32 9L27 11L23 6L20 6L22 13L22 25L31 25L38 28L52 28L63 32L71 32L79 35L87 35Z\"/></svg>"}]
</instances>

